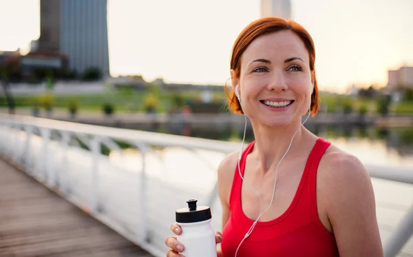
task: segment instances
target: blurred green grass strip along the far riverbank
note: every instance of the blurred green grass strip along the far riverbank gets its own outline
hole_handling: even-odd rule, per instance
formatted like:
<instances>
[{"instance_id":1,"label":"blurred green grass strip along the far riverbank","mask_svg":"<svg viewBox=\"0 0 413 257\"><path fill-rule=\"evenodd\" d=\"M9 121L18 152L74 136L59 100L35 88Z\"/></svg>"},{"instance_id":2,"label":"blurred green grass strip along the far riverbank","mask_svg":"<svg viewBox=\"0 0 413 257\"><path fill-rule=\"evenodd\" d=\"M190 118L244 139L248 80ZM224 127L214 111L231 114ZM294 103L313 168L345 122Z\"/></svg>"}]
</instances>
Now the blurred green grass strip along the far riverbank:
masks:
<instances>
[{"instance_id":1,"label":"blurred green grass strip along the far riverbank","mask_svg":"<svg viewBox=\"0 0 413 257\"><path fill-rule=\"evenodd\" d=\"M93 112L103 112L102 107L104 103L111 103L115 106L115 112L143 112L145 110L145 100L149 96L149 92L136 92L136 91L118 91L106 94L72 94L65 96L53 96L54 109L66 109L73 101L76 101L78 110L87 110ZM173 105L173 98L176 93L154 92L156 95L156 111L167 112ZM17 107L33 107L35 105L40 106L44 96L14 96L14 101ZM200 92L181 92L180 97L184 102L199 101ZM50 100L49 100L50 101ZM213 92L213 101L219 103L226 102L226 94L222 92ZM345 110L346 112L366 111L368 113L375 113L377 110L377 99L361 99L352 98L346 95L330 95L321 94L320 102L321 110L327 112L339 112ZM0 96L0 107L6 107L5 96ZM413 101L402 102L398 105L393 105L391 110L398 115L413 114Z\"/></svg>"}]
</instances>

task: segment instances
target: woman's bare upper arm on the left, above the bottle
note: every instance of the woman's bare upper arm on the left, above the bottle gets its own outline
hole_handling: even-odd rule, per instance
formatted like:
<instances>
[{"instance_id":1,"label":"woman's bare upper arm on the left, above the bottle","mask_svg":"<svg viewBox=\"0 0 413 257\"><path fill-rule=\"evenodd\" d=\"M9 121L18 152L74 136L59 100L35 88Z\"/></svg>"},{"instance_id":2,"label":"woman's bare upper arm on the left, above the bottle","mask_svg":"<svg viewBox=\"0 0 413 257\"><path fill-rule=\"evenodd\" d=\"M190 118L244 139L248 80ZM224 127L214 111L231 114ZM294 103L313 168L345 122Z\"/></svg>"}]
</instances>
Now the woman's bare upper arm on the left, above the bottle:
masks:
<instances>
[{"instance_id":1,"label":"woman's bare upper arm on the left, above the bottle","mask_svg":"<svg viewBox=\"0 0 413 257\"><path fill-rule=\"evenodd\" d=\"M237 156L237 152L227 155L218 166L218 195L222 205L222 229L224 229L230 215L229 196L231 194Z\"/></svg>"}]
</instances>

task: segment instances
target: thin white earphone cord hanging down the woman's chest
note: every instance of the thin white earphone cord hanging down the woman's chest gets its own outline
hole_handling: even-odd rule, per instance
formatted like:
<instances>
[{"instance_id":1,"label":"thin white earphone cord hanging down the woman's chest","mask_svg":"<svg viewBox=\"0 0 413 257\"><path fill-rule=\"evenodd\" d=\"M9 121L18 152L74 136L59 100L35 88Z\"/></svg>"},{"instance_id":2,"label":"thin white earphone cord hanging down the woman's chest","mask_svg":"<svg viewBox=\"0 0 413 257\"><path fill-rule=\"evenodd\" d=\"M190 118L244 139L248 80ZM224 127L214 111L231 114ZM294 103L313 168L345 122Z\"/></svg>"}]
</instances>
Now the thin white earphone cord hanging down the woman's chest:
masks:
<instances>
[{"instance_id":1,"label":"thin white earphone cord hanging down the woman's chest","mask_svg":"<svg viewBox=\"0 0 413 257\"><path fill-rule=\"evenodd\" d=\"M255 220L255 222L253 223L253 225L250 227L250 229L248 229L248 232L246 232L244 238L242 238L240 245L238 245L237 247L237 251L235 251L235 257L237 257L238 254L238 250L240 249L242 243L244 243L244 240L246 238L248 238L249 235L251 235L251 233L253 233L253 230L255 228L255 225L257 225L258 220L268 211L268 209L270 209L271 205L273 204L273 200L274 200L274 196L275 196L275 187L277 185L277 173L278 173L278 167L279 164L282 162L282 160L284 159L284 157L287 155L288 150L290 150L291 145L293 144L293 139L295 137L295 134L297 134L298 130L304 125L304 123L306 123L306 121L308 120L308 118L310 117L311 112L308 113L308 116L306 118L306 120L301 123L301 125L297 128L297 130L295 131L295 133L293 134L293 137L291 138L290 141L290 145L288 145L288 148L286 150L286 153L284 154L284 156L282 156L281 160L279 160L278 164L277 164L277 168L275 169L275 181L274 181L274 189L273 189L273 197L271 198L271 202L268 205L268 207L266 208L266 210L264 212L262 212L262 209L264 208L264 203L262 202L262 199L260 197L260 194L258 194L258 192L246 181L244 180L244 177L241 174L241 169L240 169L240 159L242 156L242 152L244 150L244 141L245 141L245 134L246 134L246 115L244 114L244 119L245 119L245 126L244 126L244 136L242 138L242 144L241 144L241 150L240 150L240 154L238 155L238 173L240 174L242 181L244 181L246 183L246 185L248 185L248 187L250 187L251 189L253 189L253 192L258 196L258 198L260 198L260 203L261 203L261 211L260 211L260 215L258 215L257 220Z\"/></svg>"}]
</instances>

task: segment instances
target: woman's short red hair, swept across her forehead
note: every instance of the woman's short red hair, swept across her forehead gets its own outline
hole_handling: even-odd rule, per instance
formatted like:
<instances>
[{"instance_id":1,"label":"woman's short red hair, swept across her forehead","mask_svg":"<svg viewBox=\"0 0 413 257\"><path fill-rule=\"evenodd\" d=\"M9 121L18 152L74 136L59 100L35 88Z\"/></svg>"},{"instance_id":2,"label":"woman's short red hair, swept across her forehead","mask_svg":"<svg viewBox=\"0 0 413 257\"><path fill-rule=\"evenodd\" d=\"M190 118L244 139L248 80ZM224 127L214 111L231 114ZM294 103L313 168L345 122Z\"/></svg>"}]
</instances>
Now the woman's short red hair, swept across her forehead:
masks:
<instances>
[{"instance_id":1,"label":"woman's short red hair, swept across her forehead","mask_svg":"<svg viewBox=\"0 0 413 257\"><path fill-rule=\"evenodd\" d=\"M248 48L248 45L250 45L254 39L257 39L257 37L273 32L279 32L282 30L290 30L297 34L297 36L303 41L304 45L306 46L308 55L310 56L310 71L311 76L314 80L314 91L311 94L310 112L312 116L315 116L315 114L317 114L319 110L320 103L317 78L315 76L314 41L311 38L310 34L308 34L307 30L295 21L286 21L285 19L277 17L265 17L262 19L257 19L256 21L253 21L248 26L246 26L246 28L244 28L244 30L242 30L240 35L237 37L233 45L233 50L231 53L231 70L235 70L235 76L239 78L241 73L241 56L246 48ZM226 85L225 92L229 97L229 110L231 110L231 112L233 113L244 114L244 112L242 112L240 102L235 96L235 93L233 91L231 91L231 93L228 93L228 91L226 90Z\"/></svg>"}]
</instances>

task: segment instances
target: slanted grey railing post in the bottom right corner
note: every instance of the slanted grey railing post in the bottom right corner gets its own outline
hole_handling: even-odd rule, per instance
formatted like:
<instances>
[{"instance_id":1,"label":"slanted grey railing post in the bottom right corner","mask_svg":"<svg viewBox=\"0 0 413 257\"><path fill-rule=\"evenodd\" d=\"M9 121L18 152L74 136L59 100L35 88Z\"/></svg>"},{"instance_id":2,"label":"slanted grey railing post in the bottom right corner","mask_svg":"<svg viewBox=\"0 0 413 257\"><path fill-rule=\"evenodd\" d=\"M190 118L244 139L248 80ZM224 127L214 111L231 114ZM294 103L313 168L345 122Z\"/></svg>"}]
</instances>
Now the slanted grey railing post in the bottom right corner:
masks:
<instances>
[{"instance_id":1,"label":"slanted grey railing post in the bottom right corner","mask_svg":"<svg viewBox=\"0 0 413 257\"><path fill-rule=\"evenodd\" d=\"M385 257L394 257L399 254L407 240L413 235L413 205L407 211L399 225L390 235L384 247Z\"/></svg>"}]
</instances>

